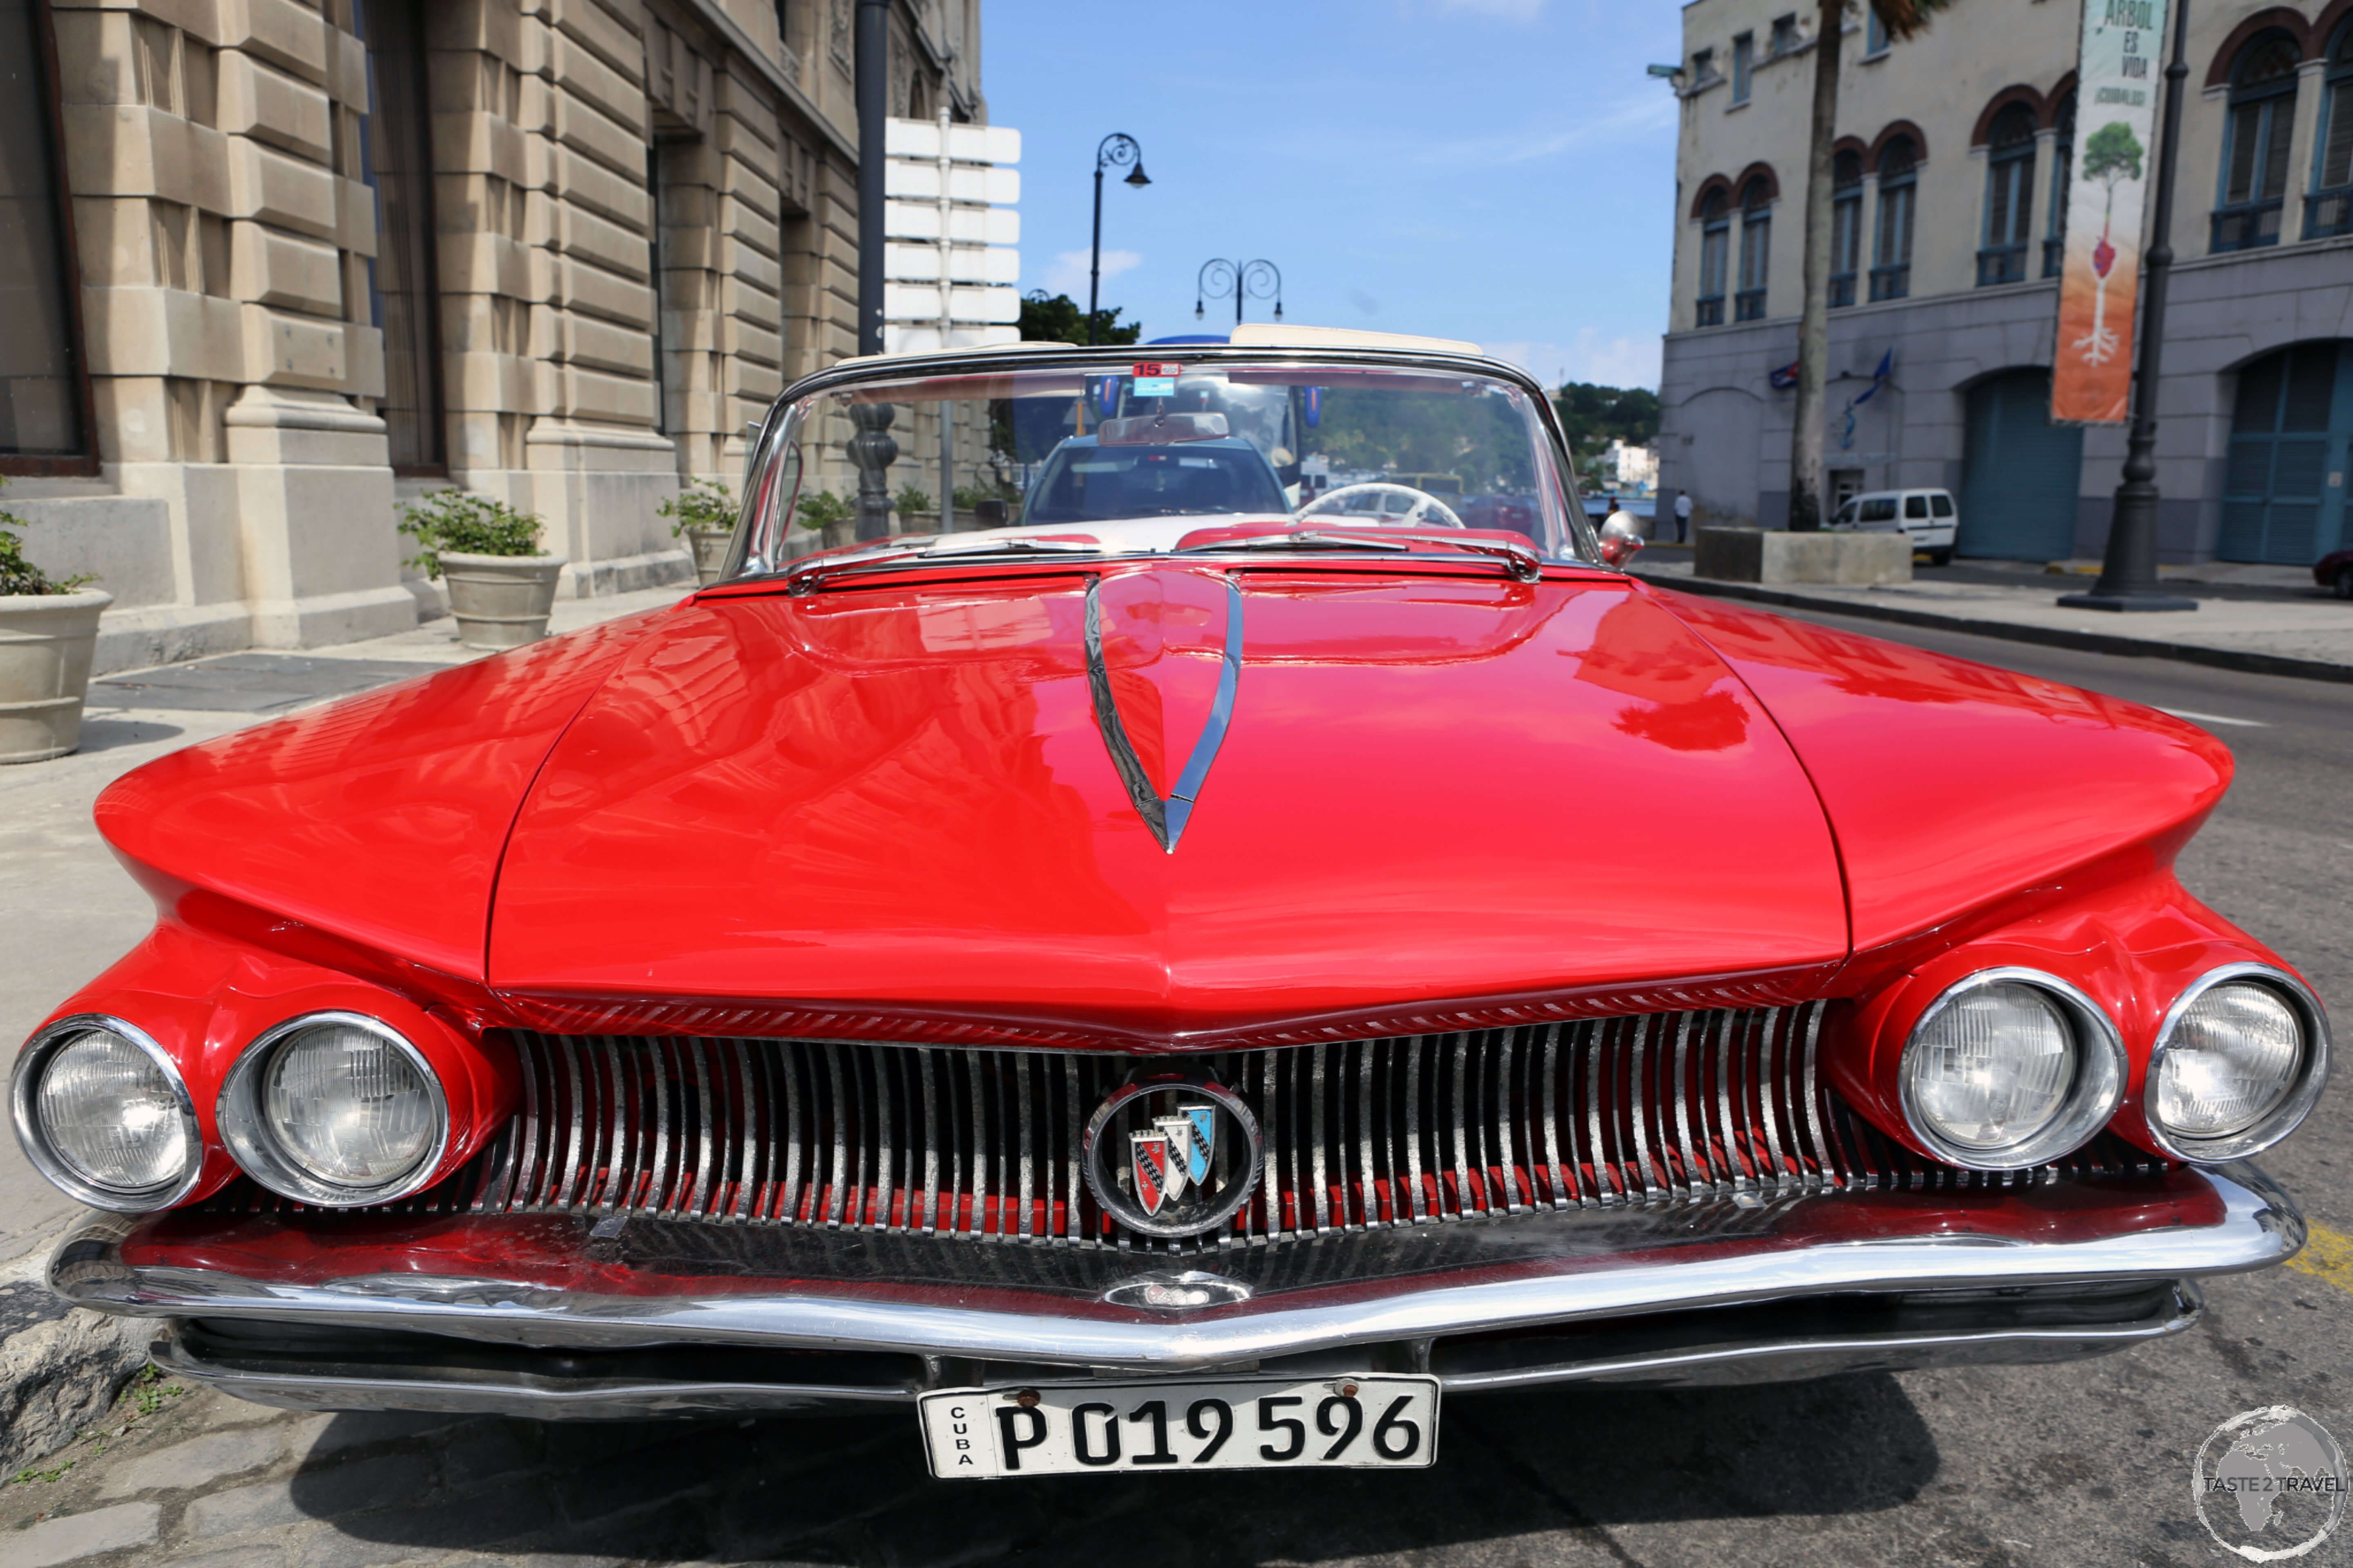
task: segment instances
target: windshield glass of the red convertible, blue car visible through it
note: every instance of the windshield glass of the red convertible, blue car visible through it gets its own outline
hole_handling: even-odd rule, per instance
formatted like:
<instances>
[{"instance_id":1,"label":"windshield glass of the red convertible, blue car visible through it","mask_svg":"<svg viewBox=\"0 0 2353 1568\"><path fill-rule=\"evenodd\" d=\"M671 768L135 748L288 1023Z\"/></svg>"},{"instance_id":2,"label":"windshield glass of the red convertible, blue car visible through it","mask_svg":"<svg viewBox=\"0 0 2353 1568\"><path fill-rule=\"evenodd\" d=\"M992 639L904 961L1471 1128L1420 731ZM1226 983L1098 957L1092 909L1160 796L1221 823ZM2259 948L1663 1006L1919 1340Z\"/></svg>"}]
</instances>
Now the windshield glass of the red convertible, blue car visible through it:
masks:
<instances>
[{"instance_id":1,"label":"windshield glass of the red convertible, blue car visible through it","mask_svg":"<svg viewBox=\"0 0 2353 1568\"><path fill-rule=\"evenodd\" d=\"M1153 350L878 371L795 400L753 461L741 571L892 536L1129 555L1249 524L1297 531L1301 550L1329 543L1318 527L1464 529L1508 536L1522 555L1591 559L1539 400L1515 381L1412 362L1139 353Z\"/></svg>"}]
</instances>

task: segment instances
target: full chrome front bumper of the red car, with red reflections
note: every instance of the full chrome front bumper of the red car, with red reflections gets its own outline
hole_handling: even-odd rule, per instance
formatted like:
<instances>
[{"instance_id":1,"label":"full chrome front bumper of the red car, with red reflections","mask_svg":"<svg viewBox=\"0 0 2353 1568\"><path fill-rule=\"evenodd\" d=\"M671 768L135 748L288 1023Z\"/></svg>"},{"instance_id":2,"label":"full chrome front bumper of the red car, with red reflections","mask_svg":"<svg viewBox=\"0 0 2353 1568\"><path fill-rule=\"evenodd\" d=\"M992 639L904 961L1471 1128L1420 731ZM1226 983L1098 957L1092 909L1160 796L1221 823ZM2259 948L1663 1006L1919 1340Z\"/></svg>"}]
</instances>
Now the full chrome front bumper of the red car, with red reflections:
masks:
<instances>
[{"instance_id":1,"label":"full chrome front bumper of the red car, with red reflections","mask_svg":"<svg viewBox=\"0 0 2353 1568\"><path fill-rule=\"evenodd\" d=\"M266 1403L647 1415L1094 1371L1332 1363L1482 1389L2066 1359L2177 1333L2198 1309L2184 1281L2301 1246L2294 1204L2238 1164L1158 1260L642 1218L94 1218L49 1279L85 1307L179 1319L167 1368Z\"/></svg>"}]
</instances>

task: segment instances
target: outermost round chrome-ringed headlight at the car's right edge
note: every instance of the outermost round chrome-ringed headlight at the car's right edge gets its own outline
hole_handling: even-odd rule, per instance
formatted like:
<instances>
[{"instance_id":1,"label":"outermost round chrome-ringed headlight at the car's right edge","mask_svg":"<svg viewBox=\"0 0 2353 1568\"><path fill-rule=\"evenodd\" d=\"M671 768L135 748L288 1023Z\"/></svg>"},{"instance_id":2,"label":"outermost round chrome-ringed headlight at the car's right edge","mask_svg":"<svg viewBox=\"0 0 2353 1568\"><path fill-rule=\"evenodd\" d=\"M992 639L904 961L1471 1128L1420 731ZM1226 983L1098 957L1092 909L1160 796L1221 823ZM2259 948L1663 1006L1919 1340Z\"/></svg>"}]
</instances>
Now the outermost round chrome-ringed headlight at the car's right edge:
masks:
<instances>
[{"instance_id":1,"label":"outermost round chrome-ringed headlight at the car's right edge","mask_svg":"<svg viewBox=\"0 0 2353 1568\"><path fill-rule=\"evenodd\" d=\"M2177 1159L2242 1159L2287 1138L2327 1074L2320 999L2268 964L2226 964L2165 1016L2141 1114Z\"/></svg>"}]
</instances>

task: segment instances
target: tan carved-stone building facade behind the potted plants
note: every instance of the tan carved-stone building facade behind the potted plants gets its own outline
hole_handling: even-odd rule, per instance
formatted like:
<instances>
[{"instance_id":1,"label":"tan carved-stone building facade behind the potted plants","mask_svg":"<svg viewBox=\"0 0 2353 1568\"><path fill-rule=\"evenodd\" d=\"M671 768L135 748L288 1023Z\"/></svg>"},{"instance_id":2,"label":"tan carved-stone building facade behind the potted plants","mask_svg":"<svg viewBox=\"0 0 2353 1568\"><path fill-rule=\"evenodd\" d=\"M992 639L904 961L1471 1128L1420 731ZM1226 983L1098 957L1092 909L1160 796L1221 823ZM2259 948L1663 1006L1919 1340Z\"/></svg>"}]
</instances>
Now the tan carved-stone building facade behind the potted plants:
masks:
<instances>
[{"instance_id":1,"label":"tan carved-stone building facade behind the potted plants","mask_svg":"<svg viewBox=\"0 0 2353 1568\"><path fill-rule=\"evenodd\" d=\"M986 120L979 0L889 113ZM414 625L398 505L685 581L654 508L856 353L852 0L0 0L0 508L101 668Z\"/></svg>"}]
</instances>

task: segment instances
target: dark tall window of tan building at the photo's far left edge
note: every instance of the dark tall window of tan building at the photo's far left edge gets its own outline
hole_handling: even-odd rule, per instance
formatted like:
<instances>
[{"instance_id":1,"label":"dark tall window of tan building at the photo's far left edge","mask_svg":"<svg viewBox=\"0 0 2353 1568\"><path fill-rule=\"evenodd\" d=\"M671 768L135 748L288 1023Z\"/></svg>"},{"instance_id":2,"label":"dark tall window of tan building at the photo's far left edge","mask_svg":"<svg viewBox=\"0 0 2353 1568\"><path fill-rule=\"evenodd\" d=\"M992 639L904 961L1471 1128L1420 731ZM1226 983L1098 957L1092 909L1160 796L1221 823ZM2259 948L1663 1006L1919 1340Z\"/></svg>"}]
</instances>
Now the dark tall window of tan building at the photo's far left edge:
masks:
<instances>
[{"instance_id":1,"label":"dark tall window of tan building at the photo's far left edge","mask_svg":"<svg viewBox=\"0 0 2353 1568\"><path fill-rule=\"evenodd\" d=\"M89 473L49 59L40 0L0 0L0 473Z\"/></svg>"}]
</instances>

